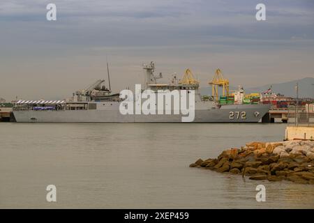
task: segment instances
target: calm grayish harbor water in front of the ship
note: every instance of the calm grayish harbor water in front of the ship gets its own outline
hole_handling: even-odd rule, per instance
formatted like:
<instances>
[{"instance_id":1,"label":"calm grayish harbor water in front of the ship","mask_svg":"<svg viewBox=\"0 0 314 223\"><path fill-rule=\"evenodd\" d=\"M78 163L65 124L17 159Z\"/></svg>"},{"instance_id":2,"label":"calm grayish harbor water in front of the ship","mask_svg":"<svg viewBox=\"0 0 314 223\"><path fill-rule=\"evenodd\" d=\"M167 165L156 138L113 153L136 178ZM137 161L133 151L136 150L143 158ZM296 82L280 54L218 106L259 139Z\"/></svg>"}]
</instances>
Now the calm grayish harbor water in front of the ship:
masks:
<instances>
[{"instance_id":1,"label":"calm grayish harbor water in front of the ship","mask_svg":"<svg viewBox=\"0 0 314 223\"><path fill-rule=\"evenodd\" d=\"M313 185L189 168L284 124L0 123L0 208L314 208ZM57 203L45 199L57 186ZM257 203L264 184L267 201Z\"/></svg>"}]
</instances>

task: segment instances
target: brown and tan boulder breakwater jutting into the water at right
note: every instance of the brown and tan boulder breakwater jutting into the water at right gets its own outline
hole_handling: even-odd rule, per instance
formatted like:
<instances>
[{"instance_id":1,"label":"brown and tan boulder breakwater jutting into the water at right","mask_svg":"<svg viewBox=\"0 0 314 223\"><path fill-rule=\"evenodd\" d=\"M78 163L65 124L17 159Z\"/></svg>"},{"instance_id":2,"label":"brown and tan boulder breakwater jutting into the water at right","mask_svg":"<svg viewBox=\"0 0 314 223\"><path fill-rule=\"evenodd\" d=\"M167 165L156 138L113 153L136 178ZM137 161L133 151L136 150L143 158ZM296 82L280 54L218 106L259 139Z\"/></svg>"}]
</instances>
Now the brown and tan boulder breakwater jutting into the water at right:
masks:
<instances>
[{"instance_id":1,"label":"brown and tan boulder breakwater jutting into the water at right","mask_svg":"<svg viewBox=\"0 0 314 223\"><path fill-rule=\"evenodd\" d=\"M314 184L314 141L253 141L230 148L217 158L199 159L190 167L241 174L251 180L290 180Z\"/></svg>"}]
</instances>

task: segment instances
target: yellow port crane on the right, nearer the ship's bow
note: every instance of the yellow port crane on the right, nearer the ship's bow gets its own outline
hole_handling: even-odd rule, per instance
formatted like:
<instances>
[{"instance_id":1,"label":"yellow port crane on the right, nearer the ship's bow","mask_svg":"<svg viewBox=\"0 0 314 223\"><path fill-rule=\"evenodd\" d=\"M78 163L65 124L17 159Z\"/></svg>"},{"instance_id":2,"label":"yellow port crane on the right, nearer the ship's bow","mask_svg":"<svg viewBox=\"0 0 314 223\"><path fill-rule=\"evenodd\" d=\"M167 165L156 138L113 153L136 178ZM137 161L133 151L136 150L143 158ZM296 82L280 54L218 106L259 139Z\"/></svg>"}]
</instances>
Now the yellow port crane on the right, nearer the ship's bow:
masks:
<instances>
[{"instance_id":1,"label":"yellow port crane on the right, nearer the ship's bow","mask_svg":"<svg viewBox=\"0 0 314 223\"><path fill-rule=\"evenodd\" d=\"M223 96L229 96L229 80L223 77L223 72L218 68L215 72L214 78L209 82L212 87L212 96L219 100L218 87L223 87Z\"/></svg>"}]
</instances>

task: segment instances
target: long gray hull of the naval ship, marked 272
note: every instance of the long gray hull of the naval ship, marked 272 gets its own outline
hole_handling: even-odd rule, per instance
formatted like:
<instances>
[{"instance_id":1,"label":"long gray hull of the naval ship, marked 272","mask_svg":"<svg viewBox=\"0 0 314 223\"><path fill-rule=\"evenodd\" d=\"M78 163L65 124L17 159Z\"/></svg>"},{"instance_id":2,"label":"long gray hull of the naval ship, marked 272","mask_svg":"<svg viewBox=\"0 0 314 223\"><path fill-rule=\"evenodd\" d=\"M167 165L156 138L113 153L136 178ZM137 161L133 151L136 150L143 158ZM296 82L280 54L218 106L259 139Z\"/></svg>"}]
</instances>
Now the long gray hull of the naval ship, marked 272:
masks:
<instances>
[{"instance_id":1,"label":"long gray hull of the naval ship, marked 272","mask_svg":"<svg viewBox=\"0 0 314 223\"><path fill-rule=\"evenodd\" d=\"M193 122L198 123L257 123L269 111L269 105L223 105L220 109L199 107ZM119 103L102 109L64 111L14 111L19 123L177 123L182 115L122 115ZM245 116L244 116L245 114Z\"/></svg>"}]
</instances>

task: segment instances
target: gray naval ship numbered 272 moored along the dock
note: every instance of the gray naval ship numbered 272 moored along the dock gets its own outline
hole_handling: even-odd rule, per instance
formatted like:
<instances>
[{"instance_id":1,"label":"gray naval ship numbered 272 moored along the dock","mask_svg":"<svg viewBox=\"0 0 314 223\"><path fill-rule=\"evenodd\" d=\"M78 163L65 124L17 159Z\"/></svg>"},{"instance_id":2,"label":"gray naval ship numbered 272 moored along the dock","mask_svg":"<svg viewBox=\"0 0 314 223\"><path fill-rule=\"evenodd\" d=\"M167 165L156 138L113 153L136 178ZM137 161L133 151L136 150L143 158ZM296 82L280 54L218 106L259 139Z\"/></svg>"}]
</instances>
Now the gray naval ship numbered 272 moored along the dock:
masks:
<instances>
[{"instance_id":1,"label":"gray naval ship numbered 272 moored along the dock","mask_svg":"<svg viewBox=\"0 0 314 223\"><path fill-rule=\"evenodd\" d=\"M220 105L215 100L203 100L199 82L190 70L179 80L176 75L168 84L159 84L162 73L155 75L155 63L143 64L144 89L158 94L158 90L194 90L196 123L257 123L269 111L269 105ZM126 100L120 93L112 93L108 69L109 89L100 79L86 89L76 91L68 100L18 100L13 116L18 123L179 123L182 114L121 114L119 108ZM142 89L144 91L144 89ZM214 91L214 90L213 90ZM134 107L136 98L133 100Z\"/></svg>"}]
</instances>

